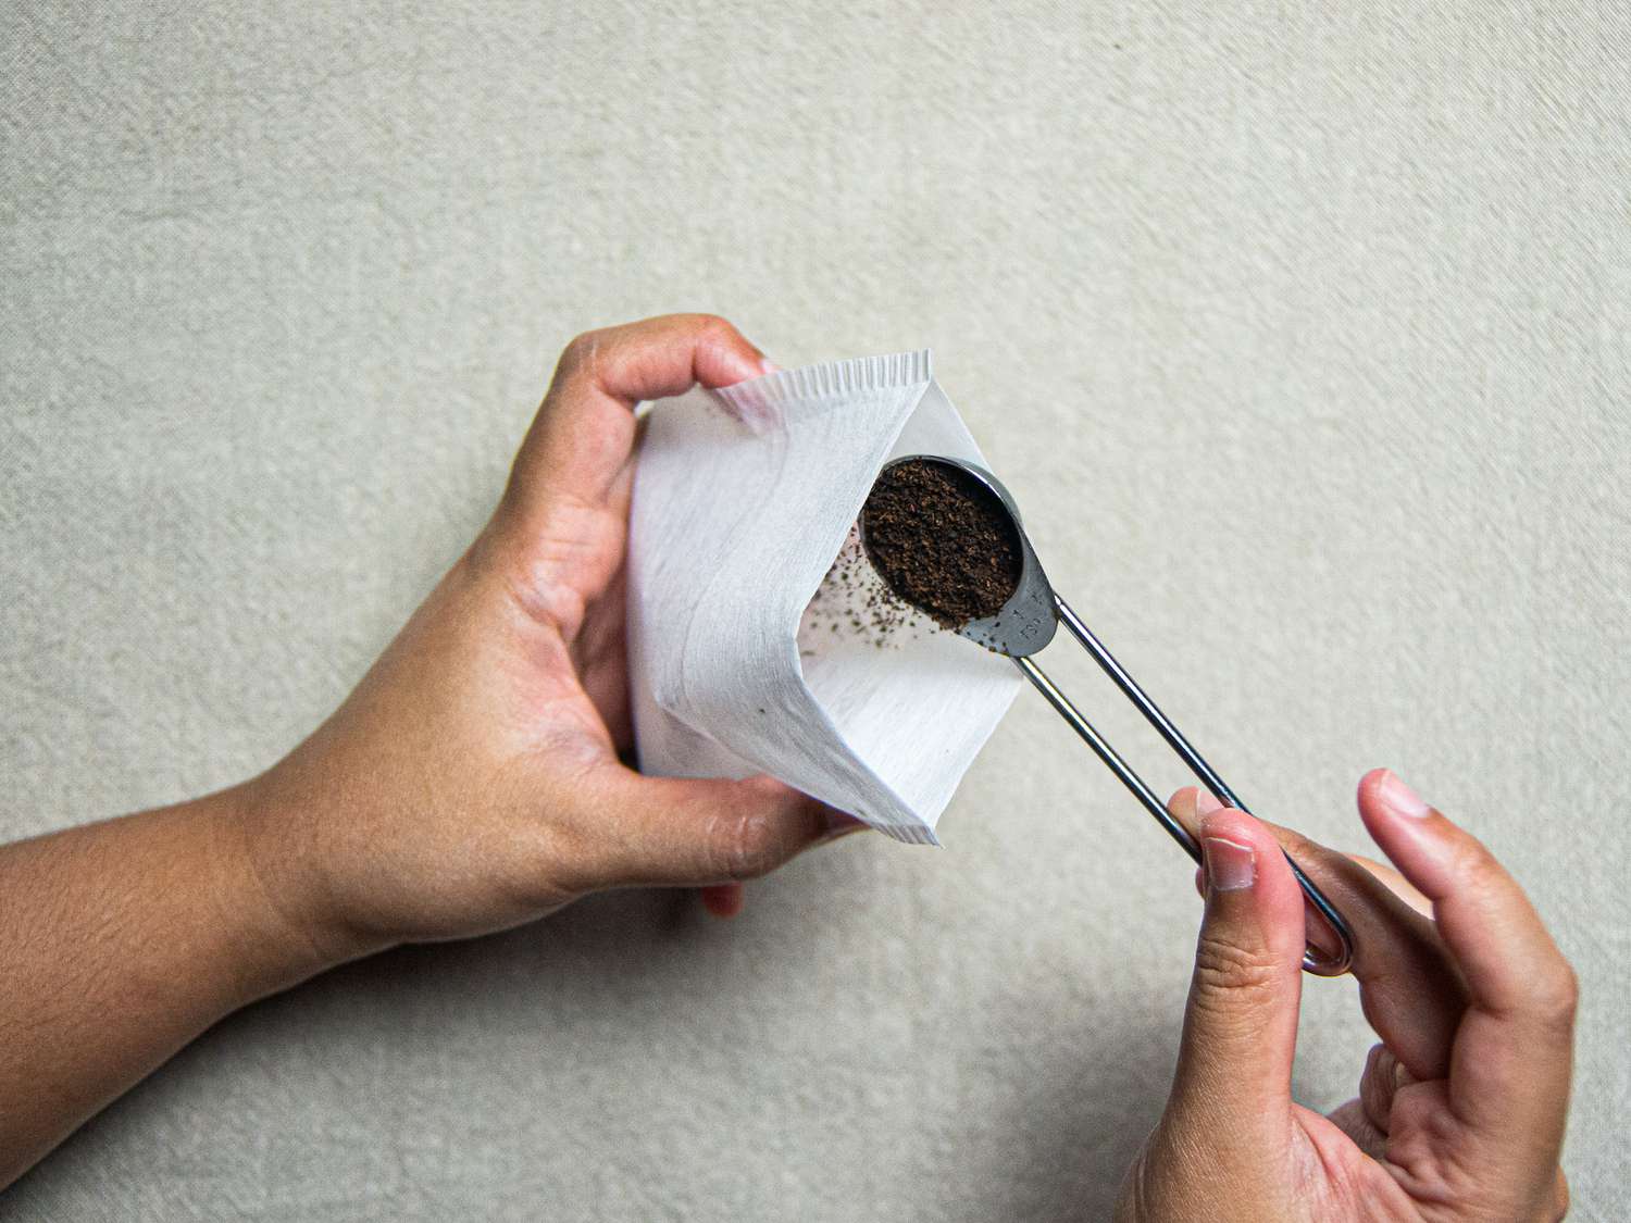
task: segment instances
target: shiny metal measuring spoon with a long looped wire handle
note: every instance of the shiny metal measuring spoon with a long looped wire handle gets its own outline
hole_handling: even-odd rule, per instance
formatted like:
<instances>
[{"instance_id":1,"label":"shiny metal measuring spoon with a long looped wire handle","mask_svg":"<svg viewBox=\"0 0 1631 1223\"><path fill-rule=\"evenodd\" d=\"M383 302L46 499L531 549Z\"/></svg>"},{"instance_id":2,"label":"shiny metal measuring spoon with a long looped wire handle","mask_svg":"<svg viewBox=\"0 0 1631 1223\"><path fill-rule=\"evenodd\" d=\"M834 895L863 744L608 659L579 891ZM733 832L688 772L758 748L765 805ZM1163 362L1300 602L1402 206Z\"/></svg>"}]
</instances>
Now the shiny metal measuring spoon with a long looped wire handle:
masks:
<instances>
[{"instance_id":1,"label":"shiny metal measuring spoon with a long looped wire handle","mask_svg":"<svg viewBox=\"0 0 1631 1223\"><path fill-rule=\"evenodd\" d=\"M1050 678L1042 672L1041 667L1032 662L1031 656L1047 646L1054 634L1059 631L1060 623L1070 631L1070 636L1093 656L1093 660L1104 669L1104 673L1111 677L1122 695L1132 701L1138 713L1156 729L1161 739L1182 758L1189 770L1200 779L1218 802L1246 810L1246 804L1241 802L1235 791L1230 789L1223 778L1217 775L1217 770L1209 765L1196 748L1189 745L1189 740L1179 734L1178 727L1168 721L1166 714L1156 708L1143 688L1140 688L1132 675L1116 662L1114 656L1104 649L1101 642L1070 605L1059 597L1052 584L1047 581L1047 574L1042 572L1042 563L1036 556L1036 550L1031 546L1031 540L1026 538L1024 527L1019 523L1019 507L1014 504L1013 496L1003 488L1001 481L997 479L990 471L974 463L966 463L961 458L944 458L943 455L907 455L904 458L891 460L884 465L884 471L900 463L936 463L946 468L954 468L964 471L980 483L980 486L988 491L1006 510L1008 520L1014 532L1014 540L1019 545L1019 581L1014 585L1013 595L1003 603L1001 610L992 616L982 620L970 620L962 628L956 629L970 641L977 641L997 654L1006 654L1014 660L1014 665L1024 672L1024 677L1036 685L1036 690L1047 698L1047 703L1054 706L1060 717L1070 722L1070 729L1075 731L1093 748L1094 755L1104 762L1104 765L1117 776L1117 779L1132 791L1134 797L1143 804L1156 823L1166 828L1168 835L1181 846L1184 853L1200 863L1200 845L1189 833L1189 830L1179 823L1161 799L1156 797L1155 791L1145 784L1125 760L1109 745L1081 713L1070 703L1070 700L1062 693ZM882 475L882 473L879 473ZM866 514L861 514L861 543L866 546ZM876 567L876 566L874 566ZM1318 977L1341 977L1347 972L1349 964L1354 959L1354 934L1342 920L1342 915L1336 910L1324 892L1303 874L1302 868L1292 861L1290 854L1285 854L1285 861L1292 866L1292 874L1297 876L1298 885L1303 889L1303 895L1308 900L1310 908L1319 916L1331 934L1339 944L1336 954L1328 952L1316 946L1306 946L1303 951L1303 969Z\"/></svg>"}]
</instances>

